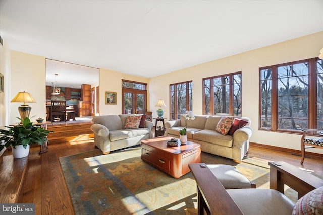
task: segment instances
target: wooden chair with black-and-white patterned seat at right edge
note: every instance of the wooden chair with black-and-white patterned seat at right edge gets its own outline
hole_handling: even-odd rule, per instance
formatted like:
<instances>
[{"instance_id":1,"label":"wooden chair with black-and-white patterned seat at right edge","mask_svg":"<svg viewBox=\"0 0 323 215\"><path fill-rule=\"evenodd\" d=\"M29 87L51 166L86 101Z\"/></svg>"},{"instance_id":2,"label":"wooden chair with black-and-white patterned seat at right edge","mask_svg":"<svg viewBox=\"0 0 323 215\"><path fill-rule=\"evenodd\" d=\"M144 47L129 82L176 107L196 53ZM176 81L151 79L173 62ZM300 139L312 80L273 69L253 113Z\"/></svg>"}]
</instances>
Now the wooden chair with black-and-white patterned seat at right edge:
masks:
<instances>
[{"instance_id":1,"label":"wooden chair with black-and-white patterned seat at right edge","mask_svg":"<svg viewBox=\"0 0 323 215\"><path fill-rule=\"evenodd\" d=\"M301 164L303 164L304 162L305 149L308 149L308 148L323 149L323 137L313 137L313 135L317 135L317 134L323 135L322 133L318 133L318 132L323 132L323 130L307 129L302 131L303 131L303 136L301 138L301 152L302 152ZM306 135L308 135L308 137Z\"/></svg>"}]
</instances>

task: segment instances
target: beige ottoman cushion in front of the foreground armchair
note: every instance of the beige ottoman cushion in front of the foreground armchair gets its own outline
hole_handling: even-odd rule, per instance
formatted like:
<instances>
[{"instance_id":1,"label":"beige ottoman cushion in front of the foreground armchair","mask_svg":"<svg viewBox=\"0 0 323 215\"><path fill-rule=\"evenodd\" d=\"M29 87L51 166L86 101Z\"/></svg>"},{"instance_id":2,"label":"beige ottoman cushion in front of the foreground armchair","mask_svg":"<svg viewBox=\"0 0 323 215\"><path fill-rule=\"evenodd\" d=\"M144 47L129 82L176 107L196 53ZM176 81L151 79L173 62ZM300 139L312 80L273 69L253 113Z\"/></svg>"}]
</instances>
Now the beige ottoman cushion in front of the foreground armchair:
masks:
<instances>
[{"instance_id":1,"label":"beige ottoman cushion in front of the foreground armchair","mask_svg":"<svg viewBox=\"0 0 323 215\"><path fill-rule=\"evenodd\" d=\"M206 166L226 189L256 188L256 184L246 178L234 166L226 164L207 164Z\"/></svg>"}]
</instances>

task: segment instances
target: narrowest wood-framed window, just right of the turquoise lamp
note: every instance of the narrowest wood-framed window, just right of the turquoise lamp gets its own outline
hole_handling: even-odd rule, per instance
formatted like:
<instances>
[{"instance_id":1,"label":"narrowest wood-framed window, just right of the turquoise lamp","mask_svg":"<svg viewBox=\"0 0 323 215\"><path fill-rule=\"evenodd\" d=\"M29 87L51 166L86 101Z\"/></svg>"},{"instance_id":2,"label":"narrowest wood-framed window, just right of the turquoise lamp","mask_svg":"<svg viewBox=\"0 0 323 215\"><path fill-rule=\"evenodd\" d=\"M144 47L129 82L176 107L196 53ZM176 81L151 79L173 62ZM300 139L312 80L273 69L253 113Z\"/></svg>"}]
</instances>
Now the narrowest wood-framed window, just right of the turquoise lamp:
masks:
<instances>
[{"instance_id":1,"label":"narrowest wood-framed window, just right of the turquoise lamp","mask_svg":"<svg viewBox=\"0 0 323 215\"><path fill-rule=\"evenodd\" d=\"M186 110L193 111L193 82L181 82L170 85L170 119L179 119Z\"/></svg>"}]
</instances>

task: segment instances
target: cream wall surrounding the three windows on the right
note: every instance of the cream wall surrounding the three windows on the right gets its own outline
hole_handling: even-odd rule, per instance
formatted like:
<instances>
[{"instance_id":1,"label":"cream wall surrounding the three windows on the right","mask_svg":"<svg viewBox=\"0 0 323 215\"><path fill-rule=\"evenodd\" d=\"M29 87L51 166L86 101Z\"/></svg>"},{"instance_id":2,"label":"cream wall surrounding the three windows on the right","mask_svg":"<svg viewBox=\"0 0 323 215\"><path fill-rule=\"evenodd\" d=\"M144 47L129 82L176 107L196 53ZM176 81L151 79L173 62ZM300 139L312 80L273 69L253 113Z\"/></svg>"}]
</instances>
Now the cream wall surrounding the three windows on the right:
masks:
<instances>
[{"instance_id":1,"label":"cream wall surrounding the three windows on the right","mask_svg":"<svg viewBox=\"0 0 323 215\"><path fill-rule=\"evenodd\" d=\"M323 48L322 38L323 32L319 32L154 77L149 82L150 106L155 105L157 99L164 99L167 105L164 116L169 117L169 90L165 89L169 84L192 80L193 112L202 114L202 78L242 71L242 115L251 118L254 130L250 141L300 150L299 134L258 130L259 67L318 57ZM153 114L156 115L155 111Z\"/></svg>"}]
</instances>

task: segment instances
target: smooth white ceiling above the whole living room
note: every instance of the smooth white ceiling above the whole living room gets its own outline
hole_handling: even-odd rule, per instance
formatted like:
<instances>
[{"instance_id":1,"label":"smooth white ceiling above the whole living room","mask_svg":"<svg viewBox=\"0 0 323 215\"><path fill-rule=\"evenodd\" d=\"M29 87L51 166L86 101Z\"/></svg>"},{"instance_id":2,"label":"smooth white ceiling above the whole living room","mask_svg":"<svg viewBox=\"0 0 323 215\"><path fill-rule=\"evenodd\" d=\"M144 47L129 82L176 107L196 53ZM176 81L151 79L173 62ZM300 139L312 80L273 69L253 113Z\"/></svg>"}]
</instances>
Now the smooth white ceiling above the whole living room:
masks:
<instances>
[{"instance_id":1,"label":"smooth white ceiling above the whole living room","mask_svg":"<svg viewBox=\"0 0 323 215\"><path fill-rule=\"evenodd\" d=\"M322 11L322 0L0 0L0 35L11 50L149 78L323 31Z\"/></svg>"}]
</instances>

